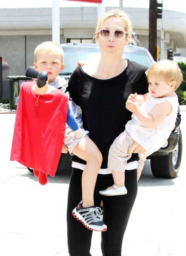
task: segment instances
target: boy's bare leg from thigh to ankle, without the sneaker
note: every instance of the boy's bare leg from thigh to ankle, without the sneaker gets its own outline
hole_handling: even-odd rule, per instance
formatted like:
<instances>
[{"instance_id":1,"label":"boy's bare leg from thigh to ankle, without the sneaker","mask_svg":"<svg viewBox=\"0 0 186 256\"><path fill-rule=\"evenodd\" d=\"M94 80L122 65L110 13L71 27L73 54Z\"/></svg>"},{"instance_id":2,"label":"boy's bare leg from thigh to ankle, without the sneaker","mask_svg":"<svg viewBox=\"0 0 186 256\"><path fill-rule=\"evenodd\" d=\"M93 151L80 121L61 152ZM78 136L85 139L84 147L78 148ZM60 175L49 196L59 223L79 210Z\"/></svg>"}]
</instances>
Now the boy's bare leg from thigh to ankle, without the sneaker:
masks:
<instances>
[{"instance_id":1,"label":"boy's bare leg from thigh to ankle, without the sneaker","mask_svg":"<svg viewBox=\"0 0 186 256\"><path fill-rule=\"evenodd\" d=\"M102 155L89 137L84 137L75 146L72 153L87 162L82 174L83 207L94 205L94 188L97 174L102 163Z\"/></svg>"}]
</instances>

